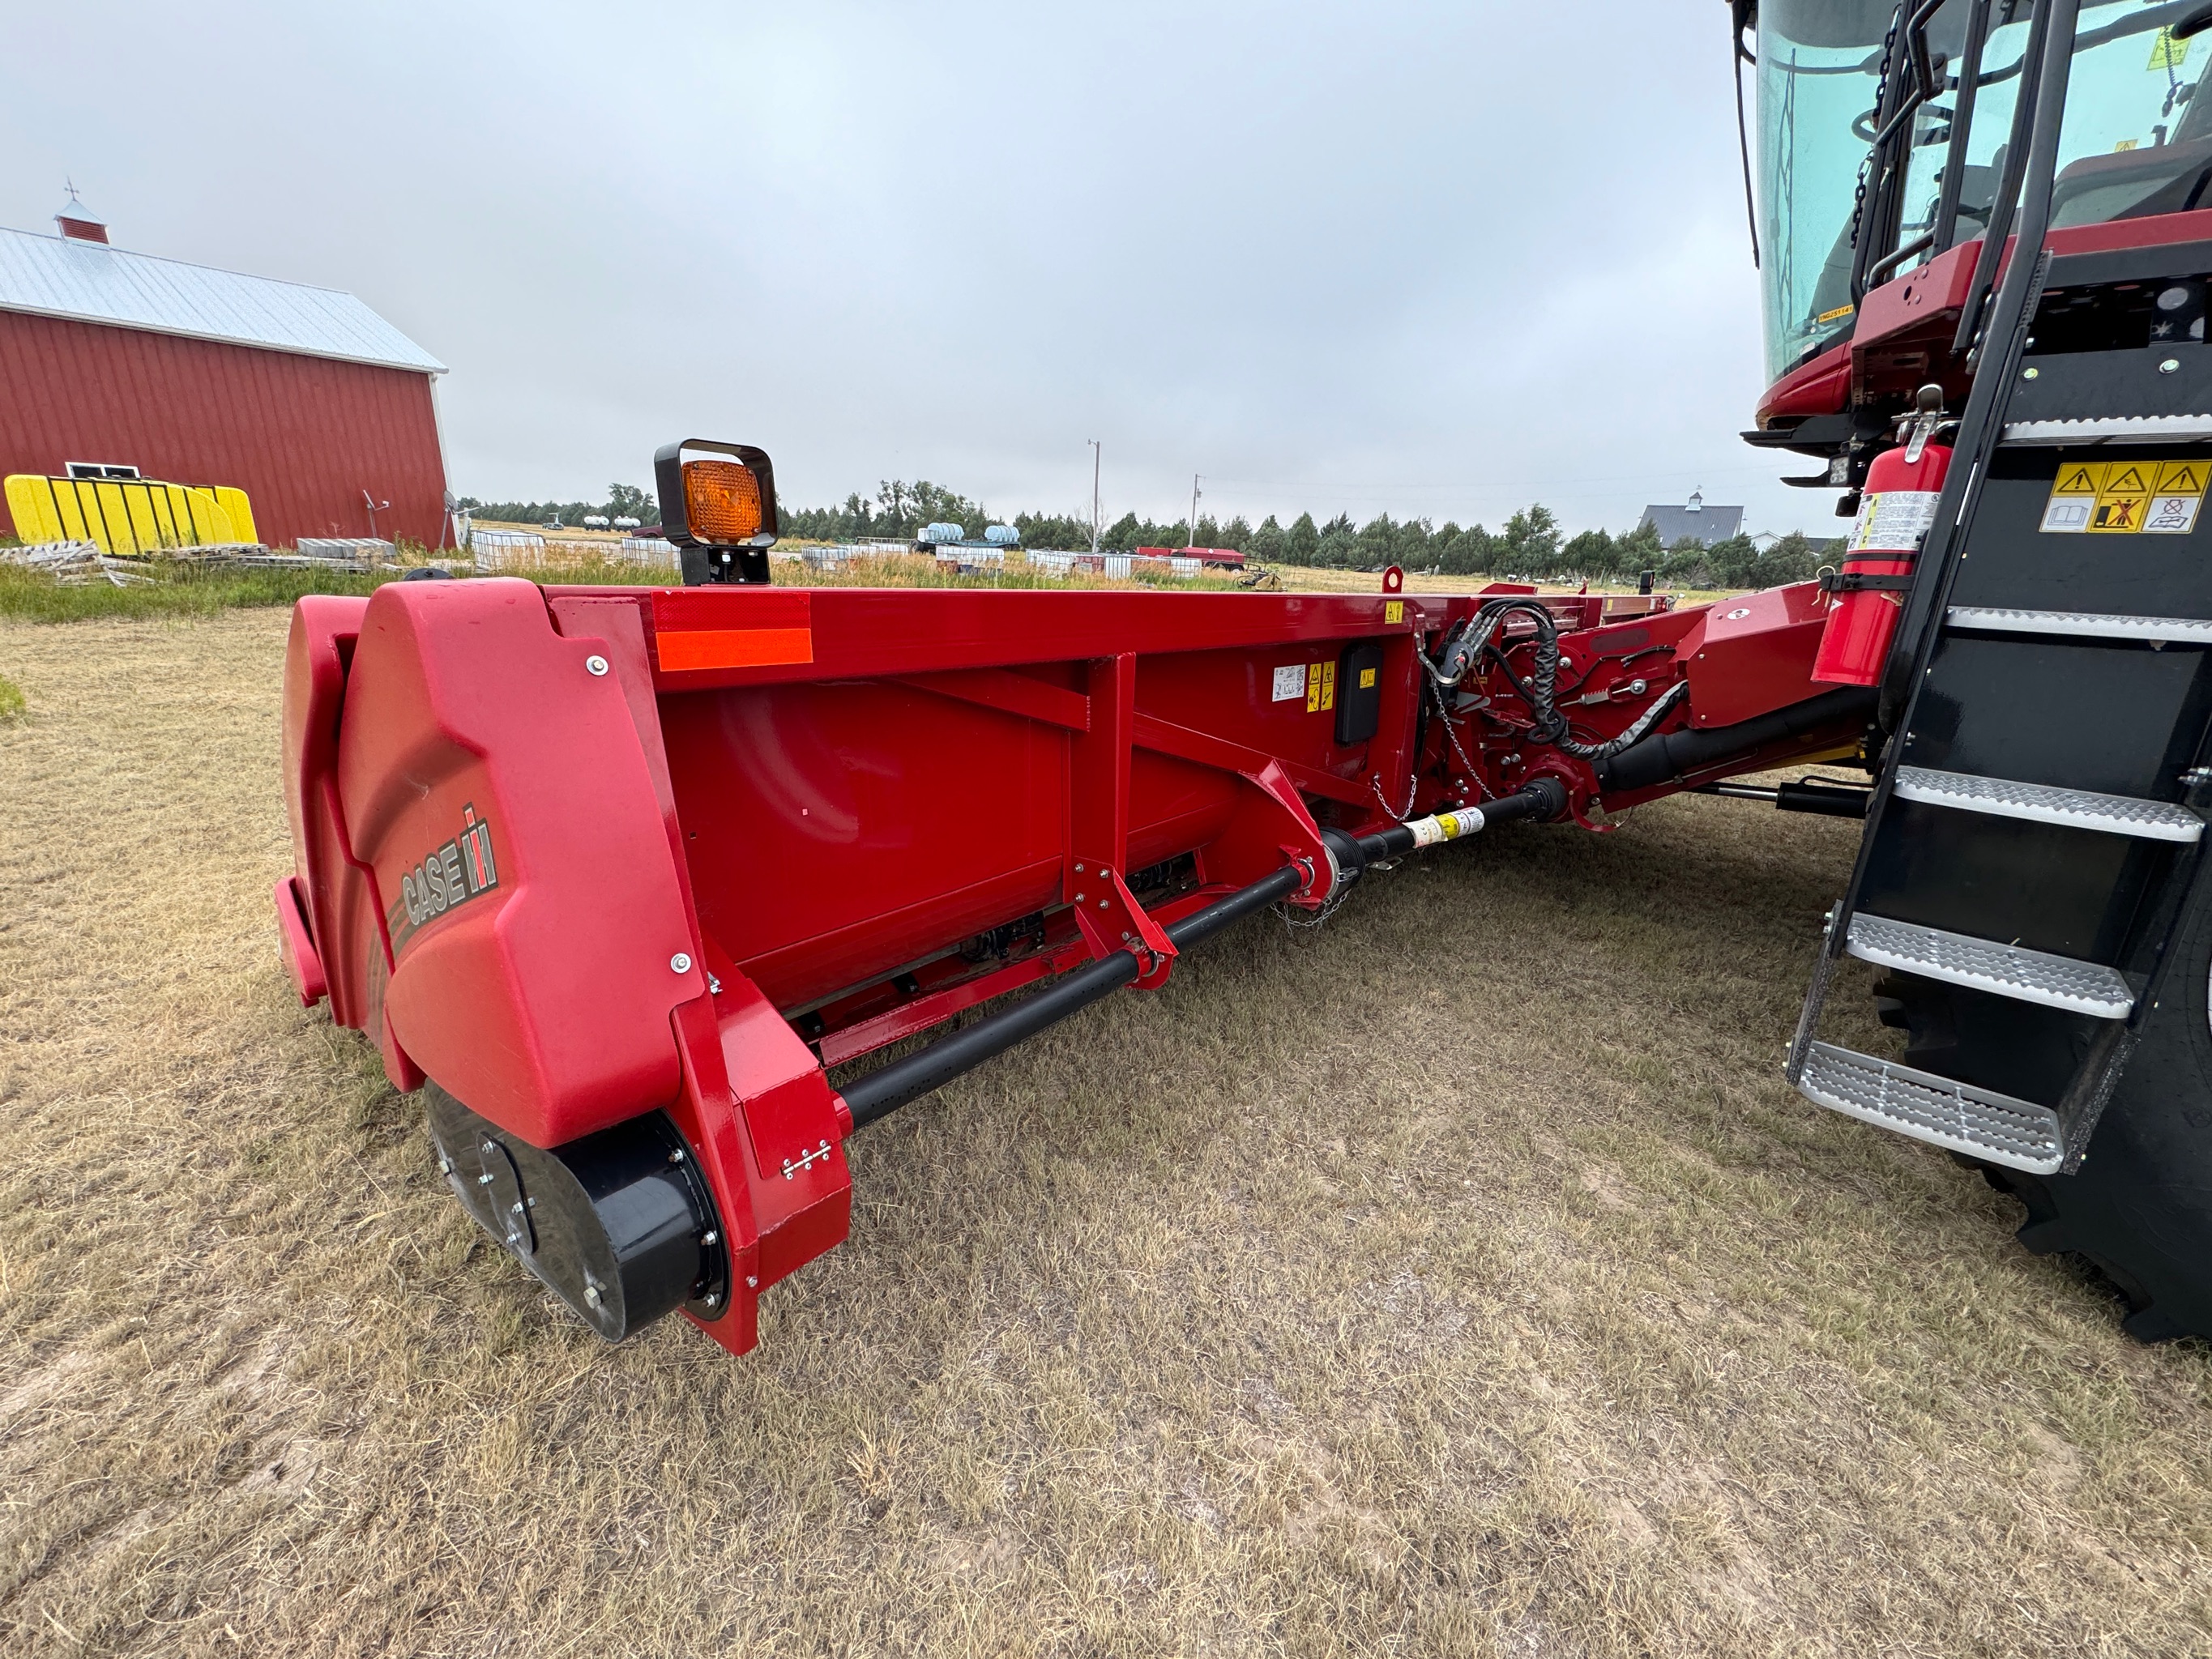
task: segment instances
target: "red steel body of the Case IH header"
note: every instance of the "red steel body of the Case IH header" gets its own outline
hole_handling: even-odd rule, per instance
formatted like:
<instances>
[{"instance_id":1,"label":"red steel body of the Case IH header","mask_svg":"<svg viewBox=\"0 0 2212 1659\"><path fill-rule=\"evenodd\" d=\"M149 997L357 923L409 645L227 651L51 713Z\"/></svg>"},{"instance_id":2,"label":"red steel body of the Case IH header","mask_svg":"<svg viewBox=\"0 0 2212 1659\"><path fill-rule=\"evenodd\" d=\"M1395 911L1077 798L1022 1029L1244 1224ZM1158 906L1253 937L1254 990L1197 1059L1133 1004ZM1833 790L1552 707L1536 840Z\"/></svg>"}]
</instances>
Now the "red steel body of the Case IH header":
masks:
<instances>
[{"instance_id":1,"label":"red steel body of the Case IH header","mask_svg":"<svg viewBox=\"0 0 2212 1659\"><path fill-rule=\"evenodd\" d=\"M668 1110L732 1256L730 1305L701 1323L741 1354L759 1292L847 1232L830 1066L1119 949L1159 984L1164 927L1212 898L1290 863L1292 902L1327 900L1325 825L1551 774L1604 827L1601 807L1681 787L1601 801L1502 677L1447 714L1420 655L1480 602L522 580L303 599L283 953L394 1086L436 1077L533 1146ZM1659 730L1825 690L1814 584L1542 604L1586 741L1679 679ZM1380 701L1371 737L1338 743L1354 646L1380 650Z\"/></svg>"}]
</instances>

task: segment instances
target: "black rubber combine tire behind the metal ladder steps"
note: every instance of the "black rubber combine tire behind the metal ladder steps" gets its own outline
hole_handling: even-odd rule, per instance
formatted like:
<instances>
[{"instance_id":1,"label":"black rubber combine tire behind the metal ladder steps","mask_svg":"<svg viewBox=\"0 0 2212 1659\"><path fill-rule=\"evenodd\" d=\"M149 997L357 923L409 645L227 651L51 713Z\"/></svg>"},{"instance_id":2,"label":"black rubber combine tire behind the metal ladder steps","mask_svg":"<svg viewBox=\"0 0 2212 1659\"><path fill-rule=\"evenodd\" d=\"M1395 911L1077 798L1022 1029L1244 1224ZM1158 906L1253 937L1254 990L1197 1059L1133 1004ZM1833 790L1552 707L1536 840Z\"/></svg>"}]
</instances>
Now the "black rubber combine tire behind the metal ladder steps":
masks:
<instances>
[{"instance_id":1,"label":"black rubber combine tire behind the metal ladder steps","mask_svg":"<svg viewBox=\"0 0 2212 1659\"><path fill-rule=\"evenodd\" d=\"M2212 900L2203 891L2174 951L2081 1172L2026 1175L1975 1159L1991 1186L2028 1206L2020 1243L2095 1263L2128 1298L2126 1329L2143 1343L2212 1336ZM1909 1033L1909 1066L2026 1099L2048 1099L2048 1077L2070 1073L2075 1055L2037 1051L2035 1022L2017 1002L1905 973L1882 975L1876 995L1882 1022ZM2081 1042L2086 1031L2075 1053Z\"/></svg>"}]
</instances>

